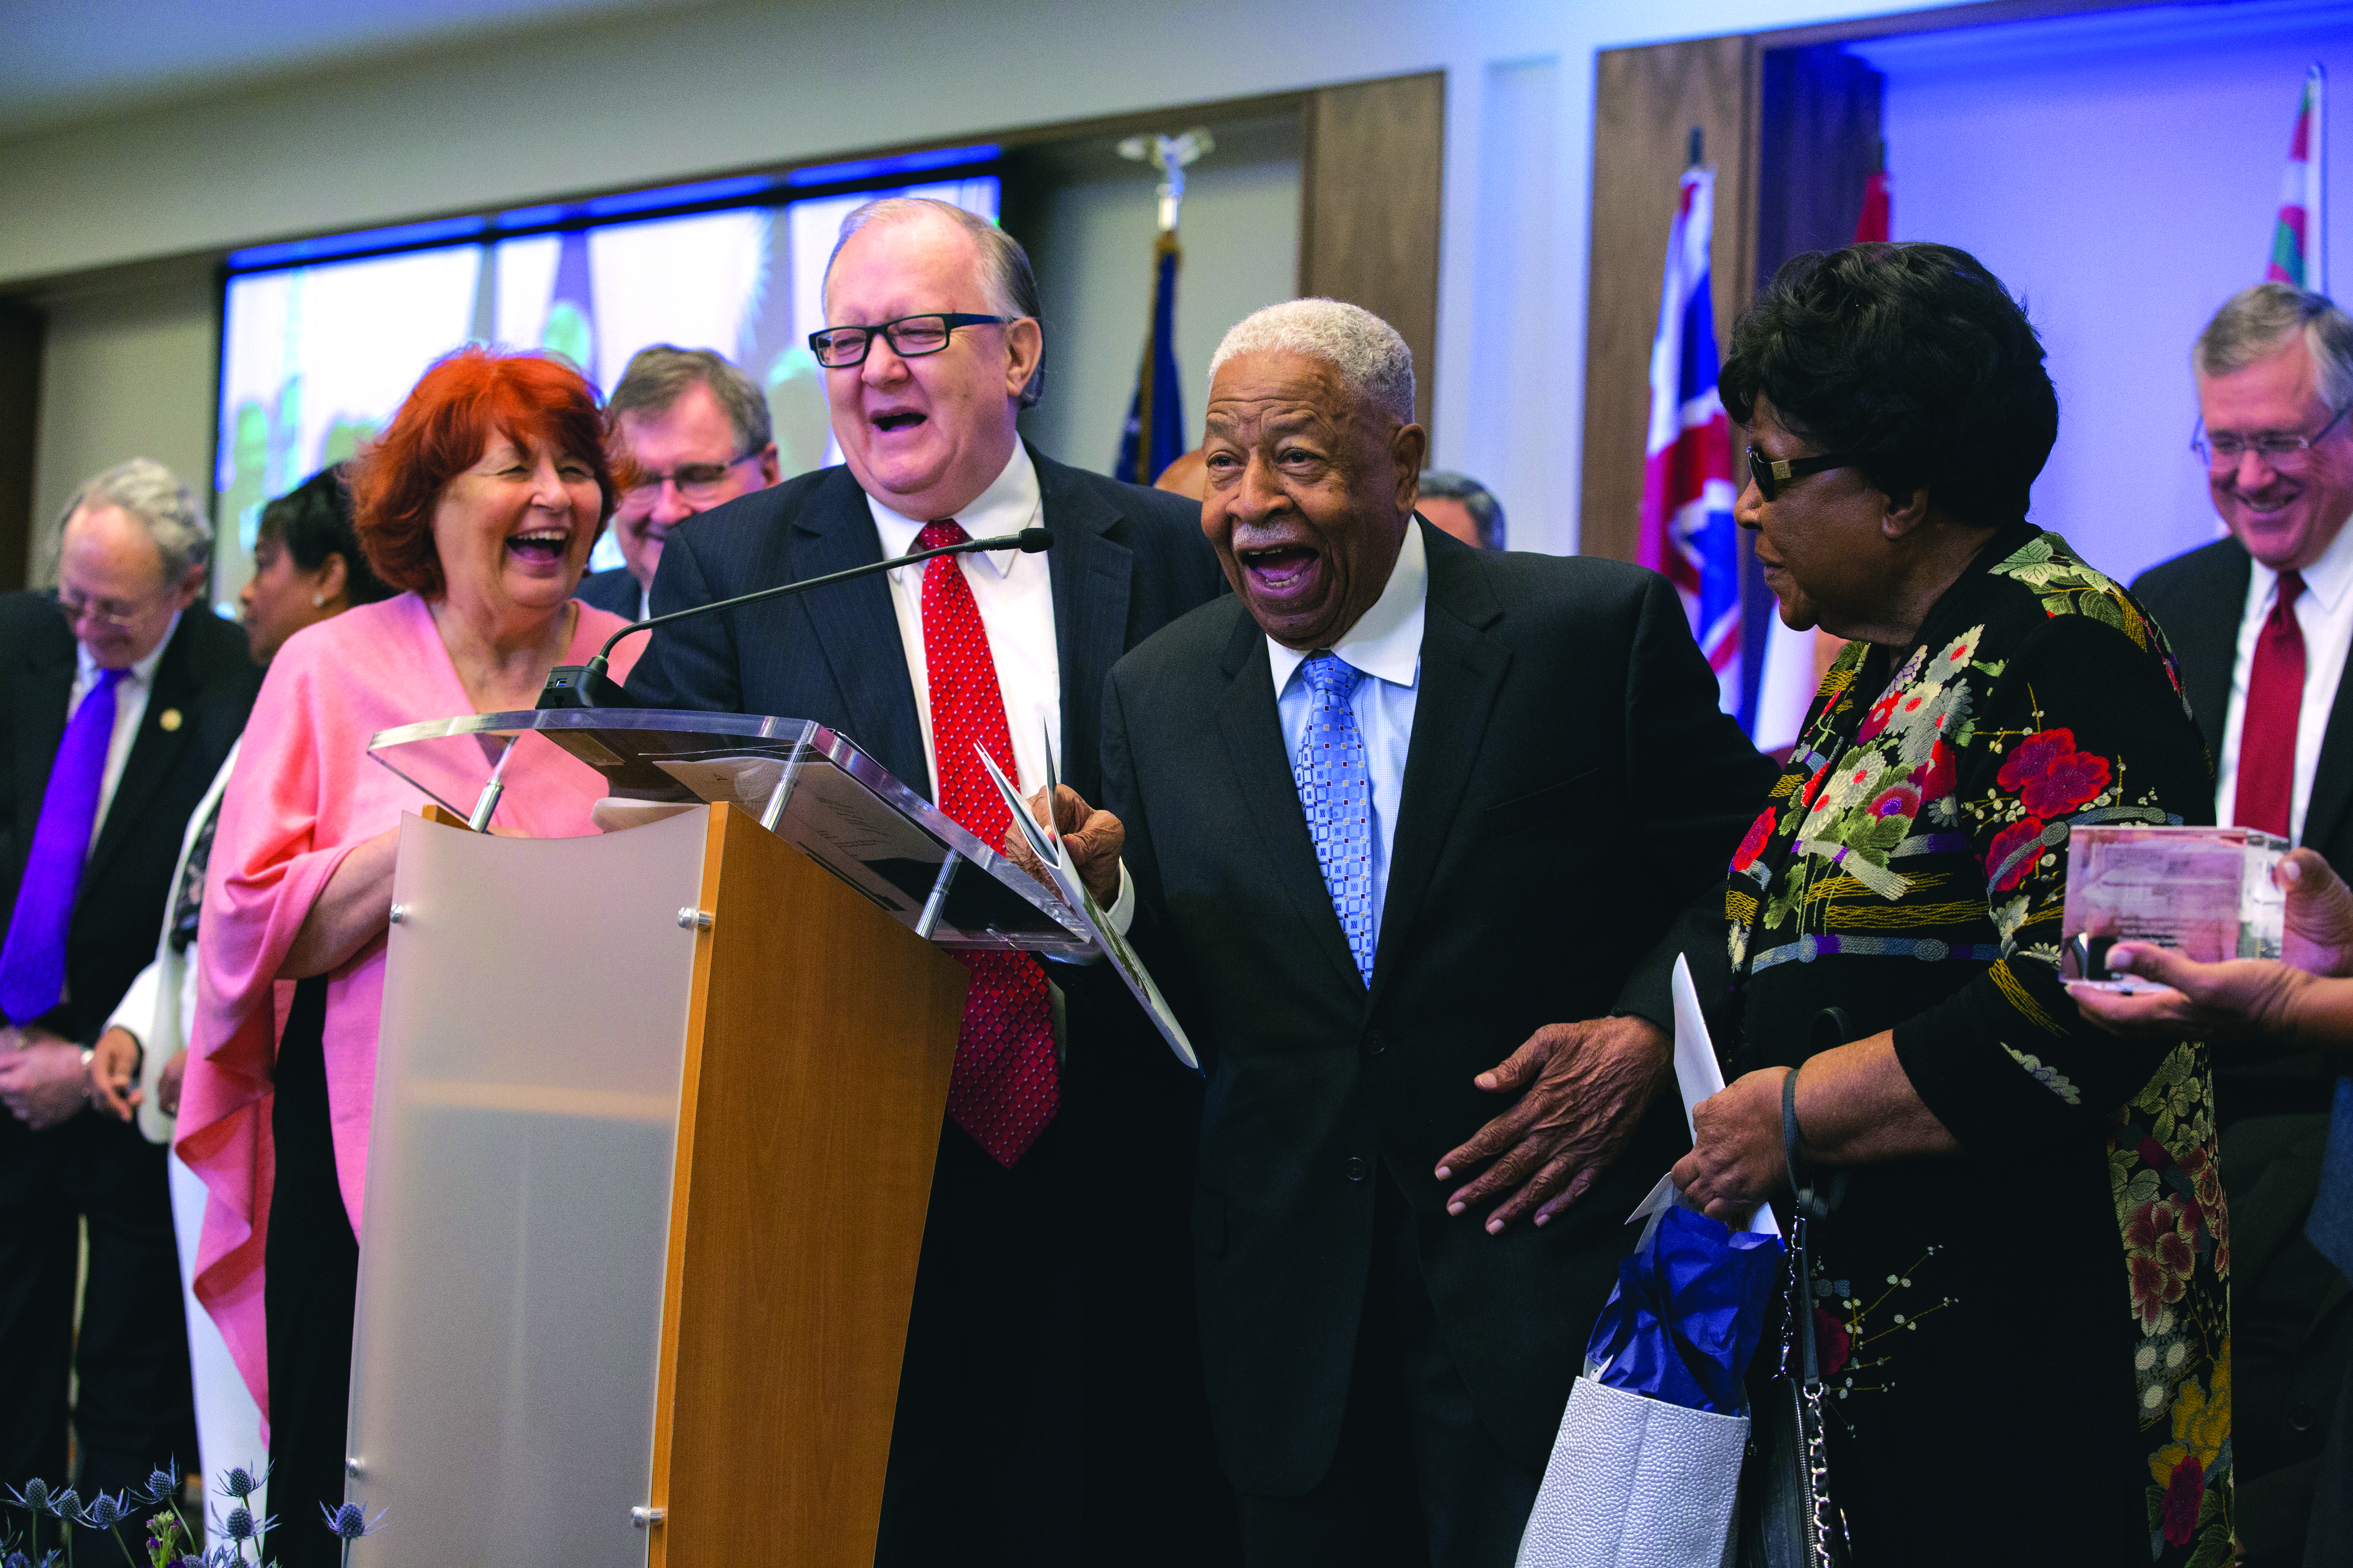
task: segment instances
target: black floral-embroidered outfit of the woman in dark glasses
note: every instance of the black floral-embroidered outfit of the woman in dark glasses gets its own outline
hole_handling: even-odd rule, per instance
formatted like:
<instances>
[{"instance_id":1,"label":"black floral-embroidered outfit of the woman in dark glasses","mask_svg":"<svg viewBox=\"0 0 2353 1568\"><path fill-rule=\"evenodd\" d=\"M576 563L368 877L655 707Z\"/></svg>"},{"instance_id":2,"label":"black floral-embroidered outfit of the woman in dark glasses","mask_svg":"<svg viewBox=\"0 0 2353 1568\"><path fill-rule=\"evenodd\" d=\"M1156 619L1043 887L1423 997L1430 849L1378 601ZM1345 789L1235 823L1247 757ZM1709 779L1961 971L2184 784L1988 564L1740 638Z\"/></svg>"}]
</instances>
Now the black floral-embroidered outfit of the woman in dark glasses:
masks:
<instances>
[{"instance_id":1,"label":"black floral-embroidered outfit of the woman in dark glasses","mask_svg":"<svg viewBox=\"0 0 2353 1568\"><path fill-rule=\"evenodd\" d=\"M1847 646L1732 860L1739 1065L1894 1030L1962 1145L1857 1168L1817 1227L1861 1563L1984 1561L1972 1516L2035 1561L2228 1559L2207 1053L2094 1030L2057 971L2068 830L2212 799L2162 632L2014 524L1913 646Z\"/></svg>"}]
</instances>

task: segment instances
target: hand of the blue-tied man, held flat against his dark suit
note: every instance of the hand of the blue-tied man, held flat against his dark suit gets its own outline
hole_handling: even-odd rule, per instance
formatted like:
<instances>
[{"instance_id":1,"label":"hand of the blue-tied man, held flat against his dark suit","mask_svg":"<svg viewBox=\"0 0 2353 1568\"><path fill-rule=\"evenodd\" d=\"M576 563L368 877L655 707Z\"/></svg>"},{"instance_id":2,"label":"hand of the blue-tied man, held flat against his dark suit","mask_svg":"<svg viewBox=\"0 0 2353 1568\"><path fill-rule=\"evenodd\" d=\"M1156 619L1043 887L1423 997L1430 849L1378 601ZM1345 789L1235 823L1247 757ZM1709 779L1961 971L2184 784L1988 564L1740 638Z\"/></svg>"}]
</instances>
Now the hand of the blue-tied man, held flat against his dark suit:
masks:
<instances>
[{"instance_id":1,"label":"hand of the blue-tied man, held flat against his dark suit","mask_svg":"<svg viewBox=\"0 0 2353 1568\"><path fill-rule=\"evenodd\" d=\"M1442 1182L1494 1161L1447 1197L1447 1213L1508 1194L1487 1215L1492 1237L1529 1211L1544 1225L1581 1199L1626 1152L1649 1098L1659 1093L1671 1051L1668 1037L1642 1018L1548 1023L1529 1034L1525 1046L1473 1079L1487 1093L1525 1093L1440 1161Z\"/></svg>"}]
</instances>

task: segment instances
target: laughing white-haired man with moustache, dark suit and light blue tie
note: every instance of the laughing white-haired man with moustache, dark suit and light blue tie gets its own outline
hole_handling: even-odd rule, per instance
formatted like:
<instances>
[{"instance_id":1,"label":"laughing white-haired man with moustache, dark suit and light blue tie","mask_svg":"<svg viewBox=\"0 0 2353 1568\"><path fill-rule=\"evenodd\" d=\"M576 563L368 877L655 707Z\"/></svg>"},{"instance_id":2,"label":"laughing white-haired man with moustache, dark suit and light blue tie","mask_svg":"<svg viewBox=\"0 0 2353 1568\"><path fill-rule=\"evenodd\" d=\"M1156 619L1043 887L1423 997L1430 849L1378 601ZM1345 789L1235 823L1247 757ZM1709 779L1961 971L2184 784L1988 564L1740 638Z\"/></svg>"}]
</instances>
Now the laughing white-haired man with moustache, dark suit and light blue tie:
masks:
<instances>
[{"instance_id":1,"label":"laughing white-haired man with moustache, dark suit and light blue tie","mask_svg":"<svg viewBox=\"0 0 2353 1568\"><path fill-rule=\"evenodd\" d=\"M1285 1568L1513 1561L1626 1213L1687 1147L1661 938L1772 780L1666 578L1417 520L1412 421L1355 306L1226 334L1202 529L1235 597L1118 663L1108 811L1056 804L1209 1065L1209 1403Z\"/></svg>"}]
</instances>

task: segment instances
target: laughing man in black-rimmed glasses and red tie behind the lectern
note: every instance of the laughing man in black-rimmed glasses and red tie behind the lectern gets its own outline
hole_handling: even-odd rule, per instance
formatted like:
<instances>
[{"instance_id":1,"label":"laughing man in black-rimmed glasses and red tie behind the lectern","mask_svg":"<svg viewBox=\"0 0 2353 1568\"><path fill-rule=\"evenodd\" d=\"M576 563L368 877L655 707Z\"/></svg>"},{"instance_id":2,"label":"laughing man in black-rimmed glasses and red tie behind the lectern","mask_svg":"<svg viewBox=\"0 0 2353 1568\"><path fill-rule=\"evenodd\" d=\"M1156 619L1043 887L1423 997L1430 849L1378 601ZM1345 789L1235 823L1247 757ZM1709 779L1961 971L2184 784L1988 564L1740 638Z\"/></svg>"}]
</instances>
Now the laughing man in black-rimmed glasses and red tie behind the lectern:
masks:
<instances>
[{"instance_id":1,"label":"laughing man in black-rimmed glasses and red tie behind the lectern","mask_svg":"<svg viewBox=\"0 0 2353 1568\"><path fill-rule=\"evenodd\" d=\"M661 628L649 708L826 724L991 844L1024 792L1099 797L1111 665L1224 583L1198 505L1054 463L1016 416L1045 334L1021 244L944 202L854 212L826 268L847 458L671 536L656 616L962 538L955 555ZM1209 1448L1191 1286L1200 1079L1132 1006L972 954L922 1237L875 1561L1217 1563L1233 1500Z\"/></svg>"}]
</instances>

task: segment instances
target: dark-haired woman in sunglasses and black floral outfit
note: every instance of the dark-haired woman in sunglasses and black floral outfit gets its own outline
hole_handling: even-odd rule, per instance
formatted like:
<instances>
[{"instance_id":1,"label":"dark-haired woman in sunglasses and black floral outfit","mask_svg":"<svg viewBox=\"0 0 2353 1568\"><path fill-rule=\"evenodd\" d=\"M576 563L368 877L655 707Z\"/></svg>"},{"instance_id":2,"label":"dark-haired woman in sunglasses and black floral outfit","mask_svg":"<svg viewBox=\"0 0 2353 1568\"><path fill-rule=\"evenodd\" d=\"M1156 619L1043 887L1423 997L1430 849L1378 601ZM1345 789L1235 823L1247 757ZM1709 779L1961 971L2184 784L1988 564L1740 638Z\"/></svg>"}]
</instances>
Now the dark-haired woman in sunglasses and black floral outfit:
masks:
<instances>
[{"instance_id":1,"label":"dark-haired woman in sunglasses and black floral outfit","mask_svg":"<svg viewBox=\"0 0 2353 1568\"><path fill-rule=\"evenodd\" d=\"M1720 1218L1814 1194L1857 1563L2224 1561L2205 1046L2059 976L2068 827L2214 792L2162 632L2026 522L2035 329L1965 252L1857 244L1781 268L1720 390L1781 618L1849 644L1732 860L1739 1077L1675 1178Z\"/></svg>"}]
</instances>

